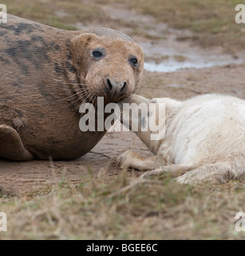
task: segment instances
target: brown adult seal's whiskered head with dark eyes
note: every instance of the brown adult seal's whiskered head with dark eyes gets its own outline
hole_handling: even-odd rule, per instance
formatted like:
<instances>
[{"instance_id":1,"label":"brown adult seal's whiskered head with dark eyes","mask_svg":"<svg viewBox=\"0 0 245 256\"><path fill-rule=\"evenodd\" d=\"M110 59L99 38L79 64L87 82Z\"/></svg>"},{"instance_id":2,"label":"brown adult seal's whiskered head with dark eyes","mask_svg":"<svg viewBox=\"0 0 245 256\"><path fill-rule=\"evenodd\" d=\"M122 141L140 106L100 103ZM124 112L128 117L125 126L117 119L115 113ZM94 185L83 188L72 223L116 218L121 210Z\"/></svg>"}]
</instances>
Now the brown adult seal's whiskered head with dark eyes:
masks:
<instances>
[{"instance_id":1,"label":"brown adult seal's whiskered head with dark eyes","mask_svg":"<svg viewBox=\"0 0 245 256\"><path fill-rule=\"evenodd\" d=\"M85 30L72 43L74 66L90 95L119 102L139 88L144 53L132 38L99 28Z\"/></svg>"}]
</instances>

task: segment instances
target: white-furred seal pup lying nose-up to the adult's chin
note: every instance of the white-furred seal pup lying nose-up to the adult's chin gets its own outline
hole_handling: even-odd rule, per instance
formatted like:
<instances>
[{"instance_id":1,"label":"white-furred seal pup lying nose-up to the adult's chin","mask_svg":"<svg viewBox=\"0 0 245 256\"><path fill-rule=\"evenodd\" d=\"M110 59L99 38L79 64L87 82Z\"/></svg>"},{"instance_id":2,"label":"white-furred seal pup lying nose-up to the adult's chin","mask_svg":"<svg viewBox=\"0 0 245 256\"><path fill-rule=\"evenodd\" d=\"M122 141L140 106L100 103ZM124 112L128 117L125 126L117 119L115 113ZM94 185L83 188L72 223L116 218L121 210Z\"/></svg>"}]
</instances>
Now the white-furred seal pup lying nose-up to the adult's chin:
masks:
<instances>
[{"instance_id":1,"label":"white-furred seal pup lying nose-up to the adult's chin","mask_svg":"<svg viewBox=\"0 0 245 256\"><path fill-rule=\"evenodd\" d=\"M177 182L189 184L223 183L245 177L245 101L242 99L206 94L178 102L171 98L148 100L132 95L124 102L165 103L166 131L161 141L150 140L150 131L136 132L156 157L142 158L128 150L117 158L121 168L149 170L143 178L167 171L178 177Z\"/></svg>"}]
</instances>

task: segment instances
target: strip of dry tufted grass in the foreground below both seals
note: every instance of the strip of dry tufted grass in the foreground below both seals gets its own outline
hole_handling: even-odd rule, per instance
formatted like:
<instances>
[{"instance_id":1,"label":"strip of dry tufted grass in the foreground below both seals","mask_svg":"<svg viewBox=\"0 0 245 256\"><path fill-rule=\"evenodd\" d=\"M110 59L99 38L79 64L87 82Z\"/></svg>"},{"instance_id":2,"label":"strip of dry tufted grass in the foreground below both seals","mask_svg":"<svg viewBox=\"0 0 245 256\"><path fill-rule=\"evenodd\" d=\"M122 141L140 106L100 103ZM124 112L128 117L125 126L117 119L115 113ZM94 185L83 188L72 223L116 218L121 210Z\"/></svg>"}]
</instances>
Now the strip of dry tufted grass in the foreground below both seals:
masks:
<instances>
[{"instance_id":1,"label":"strip of dry tufted grass in the foreground below both seals","mask_svg":"<svg viewBox=\"0 0 245 256\"><path fill-rule=\"evenodd\" d=\"M102 177L103 179L103 177ZM131 181L133 182L133 181ZM245 183L180 186L167 177L53 186L47 195L0 199L8 217L2 239L241 239L235 214ZM126 186L126 189L125 189Z\"/></svg>"}]
</instances>

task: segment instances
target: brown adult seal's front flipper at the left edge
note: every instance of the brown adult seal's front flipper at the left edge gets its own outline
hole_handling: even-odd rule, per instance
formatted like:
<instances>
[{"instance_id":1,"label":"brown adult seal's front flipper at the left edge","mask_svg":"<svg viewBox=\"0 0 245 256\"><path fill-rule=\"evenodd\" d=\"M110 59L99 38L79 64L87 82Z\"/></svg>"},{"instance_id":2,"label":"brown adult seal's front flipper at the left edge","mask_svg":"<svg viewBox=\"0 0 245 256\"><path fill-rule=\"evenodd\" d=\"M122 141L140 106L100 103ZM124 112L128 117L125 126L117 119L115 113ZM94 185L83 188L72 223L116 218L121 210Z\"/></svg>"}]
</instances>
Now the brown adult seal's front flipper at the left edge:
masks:
<instances>
[{"instance_id":1,"label":"brown adult seal's front flipper at the left edge","mask_svg":"<svg viewBox=\"0 0 245 256\"><path fill-rule=\"evenodd\" d=\"M26 150L16 130L10 126L0 126L0 158L14 161L34 159L34 154Z\"/></svg>"}]
</instances>

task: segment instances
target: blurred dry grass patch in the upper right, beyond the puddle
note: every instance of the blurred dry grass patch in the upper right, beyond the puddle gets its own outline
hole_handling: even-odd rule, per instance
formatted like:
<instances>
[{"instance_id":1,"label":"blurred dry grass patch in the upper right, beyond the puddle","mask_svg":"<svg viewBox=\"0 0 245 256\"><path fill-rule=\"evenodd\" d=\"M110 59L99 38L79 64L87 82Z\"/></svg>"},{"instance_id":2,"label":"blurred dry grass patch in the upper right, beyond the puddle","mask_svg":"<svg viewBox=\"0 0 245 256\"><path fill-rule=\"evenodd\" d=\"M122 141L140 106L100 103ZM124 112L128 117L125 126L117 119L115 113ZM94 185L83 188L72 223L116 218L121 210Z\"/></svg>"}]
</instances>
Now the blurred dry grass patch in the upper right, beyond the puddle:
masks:
<instances>
[{"instance_id":1,"label":"blurred dry grass patch in the upper right, beyond the puddle","mask_svg":"<svg viewBox=\"0 0 245 256\"><path fill-rule=\"evenodd\" d=\"M192 39L202 46L243 49L243 25L235 23L239 0L140 0L130 1L142 14L150 14L176 29L192 30Z\"/></svg>"}]
</instances>

